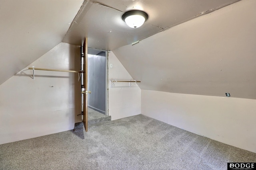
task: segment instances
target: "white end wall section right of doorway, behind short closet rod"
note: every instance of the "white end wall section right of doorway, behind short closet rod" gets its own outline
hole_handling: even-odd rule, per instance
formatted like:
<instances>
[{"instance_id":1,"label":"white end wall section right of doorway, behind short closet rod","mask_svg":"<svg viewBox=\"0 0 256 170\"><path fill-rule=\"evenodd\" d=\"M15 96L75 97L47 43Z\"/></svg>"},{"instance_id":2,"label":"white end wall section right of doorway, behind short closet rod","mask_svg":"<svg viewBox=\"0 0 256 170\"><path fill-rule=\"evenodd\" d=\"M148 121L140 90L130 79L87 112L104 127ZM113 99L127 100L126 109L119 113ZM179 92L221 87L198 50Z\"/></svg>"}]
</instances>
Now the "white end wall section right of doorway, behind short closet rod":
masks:
<instances>
[{"instance_id":1,"label":"white end wall section right of doorway, behind short closet rod","mask_svg":"<svg viewBox=\"0 0 256 170\"><path fill-rule=\"evenodd\" d=\"M140 88L136 83L131 83L130 87L128 82L112 84L110 80L133 80L133 78L112 52L109 53L108 58L108 66L110 64L113 64L113 68L108 68L108 105L111 119L121 119L140 114Z\"/></svg>"}]
</instances>

